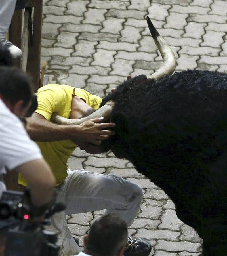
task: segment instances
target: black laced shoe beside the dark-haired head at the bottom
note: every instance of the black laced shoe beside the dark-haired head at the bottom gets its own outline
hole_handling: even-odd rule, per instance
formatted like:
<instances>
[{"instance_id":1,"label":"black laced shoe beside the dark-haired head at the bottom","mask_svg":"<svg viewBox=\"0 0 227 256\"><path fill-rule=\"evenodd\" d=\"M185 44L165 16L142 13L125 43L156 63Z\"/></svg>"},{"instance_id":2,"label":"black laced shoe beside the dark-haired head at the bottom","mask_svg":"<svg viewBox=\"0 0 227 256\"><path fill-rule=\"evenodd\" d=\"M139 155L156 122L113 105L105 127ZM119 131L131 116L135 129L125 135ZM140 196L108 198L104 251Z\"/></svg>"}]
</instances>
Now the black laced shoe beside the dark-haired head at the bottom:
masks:
<instances>
[{"instance_id":1,"label":"black laced shoe beside the dark-haired head at the bottom","mask_svg":"<svg viewBox=\"0 0 227 256\"><path fill-rule=\"evenodd\" d=\"M128 236L124 256L148 256L151 249L152 246L146 239Z\"/></svg>"}]
</instances>

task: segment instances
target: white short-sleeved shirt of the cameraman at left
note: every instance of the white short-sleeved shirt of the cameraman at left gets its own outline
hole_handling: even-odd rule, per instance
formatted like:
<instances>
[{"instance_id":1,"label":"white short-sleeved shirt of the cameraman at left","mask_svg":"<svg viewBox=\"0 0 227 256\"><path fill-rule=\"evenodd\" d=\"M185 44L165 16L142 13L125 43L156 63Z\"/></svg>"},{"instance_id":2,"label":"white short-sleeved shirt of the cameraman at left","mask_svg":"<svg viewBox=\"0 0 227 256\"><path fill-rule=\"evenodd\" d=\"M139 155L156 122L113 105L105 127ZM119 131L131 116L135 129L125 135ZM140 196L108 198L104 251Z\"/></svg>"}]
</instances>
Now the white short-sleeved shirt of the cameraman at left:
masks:
<instances>
[{"instance_id":1,"label":"white short-sleeved shirt of the cameraman at left","mask_svg":"<svg viewBox=\"0 0 227 256\"><path fill-rule=\"evenodd\" d=\"M39 147L28 136L21 121L0 99L0 178L2 173L42 158ZM5 185L0 181L0 198Z\"/></svg>"}]
</instances>

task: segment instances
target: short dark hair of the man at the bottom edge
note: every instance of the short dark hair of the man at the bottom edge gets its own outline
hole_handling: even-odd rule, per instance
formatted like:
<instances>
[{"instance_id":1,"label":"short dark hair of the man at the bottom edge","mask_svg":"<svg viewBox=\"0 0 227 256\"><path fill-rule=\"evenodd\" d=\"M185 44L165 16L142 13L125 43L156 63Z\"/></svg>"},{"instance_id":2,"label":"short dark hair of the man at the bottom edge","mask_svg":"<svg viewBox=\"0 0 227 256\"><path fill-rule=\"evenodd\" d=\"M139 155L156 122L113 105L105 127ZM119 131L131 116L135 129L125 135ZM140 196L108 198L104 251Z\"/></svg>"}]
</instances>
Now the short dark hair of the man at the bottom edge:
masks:
<instances>
[{"instance_id":1,"label":"short dark hair of the man at the bottom edge","mask_svg":"<svg viewBox=\"0 0 227 256\"><path fill-rule=\"evenodd\" d=\"M125 246L127 224L117 215L108 214L96 220L89 231L86 249L102 256L113 256Z\"/></svg>"}]
</instances>

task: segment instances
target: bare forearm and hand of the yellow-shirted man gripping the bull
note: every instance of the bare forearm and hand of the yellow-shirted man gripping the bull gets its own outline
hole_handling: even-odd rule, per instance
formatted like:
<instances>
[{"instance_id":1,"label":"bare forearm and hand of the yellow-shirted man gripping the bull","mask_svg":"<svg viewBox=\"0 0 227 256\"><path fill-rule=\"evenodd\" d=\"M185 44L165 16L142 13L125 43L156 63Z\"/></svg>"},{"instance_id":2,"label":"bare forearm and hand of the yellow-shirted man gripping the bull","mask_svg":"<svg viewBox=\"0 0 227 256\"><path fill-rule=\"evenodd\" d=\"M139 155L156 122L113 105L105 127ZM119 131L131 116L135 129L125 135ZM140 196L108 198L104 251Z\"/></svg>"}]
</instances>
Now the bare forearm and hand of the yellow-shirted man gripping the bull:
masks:
<instances>
[{"instance_id":1,"label":"bare forearm and hand of the yellow-shirted man gripping the bull","mask_svg":"<svg viewBox=\"0 0 227 256\"><path fill-rule=\"evenodd\" d=\"M73 140L75 144L79 141L86 141L96 145L101 144L101 140L114 135L114 131L105 130L114 127L114 123L100 123L103 118L95 118L80 125L58 125L51 123L38 113L33 113L27 118L27 132L35 141L56 141Z\"/></svg>"}]
</instances>

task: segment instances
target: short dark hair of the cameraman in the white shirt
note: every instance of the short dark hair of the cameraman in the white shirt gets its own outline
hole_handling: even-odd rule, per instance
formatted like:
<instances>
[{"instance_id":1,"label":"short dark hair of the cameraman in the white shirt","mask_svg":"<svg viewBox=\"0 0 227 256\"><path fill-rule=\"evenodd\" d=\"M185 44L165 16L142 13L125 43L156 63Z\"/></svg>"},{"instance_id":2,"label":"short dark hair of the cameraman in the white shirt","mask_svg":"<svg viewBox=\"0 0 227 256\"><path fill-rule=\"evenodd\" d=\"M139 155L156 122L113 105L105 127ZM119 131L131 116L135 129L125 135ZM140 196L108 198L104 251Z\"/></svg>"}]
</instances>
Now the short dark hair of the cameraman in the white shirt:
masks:
<instances>
[{"instance_id":1,"label":"short dark hair of the cameraman in the white shirt","mask_svg":"<svg viewBox=\"0 0 227 256\"><path fill-rule=\"evenodd\" d=\"M0 67L0 94L11 104L24 100L26 106L31 100L31 80L18 68Z\"/></svg>"}]
</instances>

